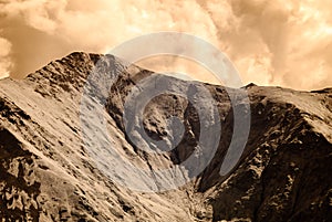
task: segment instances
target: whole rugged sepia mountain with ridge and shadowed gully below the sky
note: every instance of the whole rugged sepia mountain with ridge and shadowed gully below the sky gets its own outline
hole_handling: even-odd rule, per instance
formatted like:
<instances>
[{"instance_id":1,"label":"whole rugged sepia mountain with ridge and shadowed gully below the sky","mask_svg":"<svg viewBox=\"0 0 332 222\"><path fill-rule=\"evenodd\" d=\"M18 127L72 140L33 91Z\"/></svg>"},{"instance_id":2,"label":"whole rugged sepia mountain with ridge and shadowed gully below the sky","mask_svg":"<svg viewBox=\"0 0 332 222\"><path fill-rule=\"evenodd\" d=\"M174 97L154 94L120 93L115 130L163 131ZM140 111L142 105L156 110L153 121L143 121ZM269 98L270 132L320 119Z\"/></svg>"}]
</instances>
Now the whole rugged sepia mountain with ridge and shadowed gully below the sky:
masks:
<instances>
[{"instance_id":1,"label":"whole rugged sepia mountain with ridge and shadowed gully below the sky","mask_svg":"<svg viewBox=\"0 0 332 222\"><path fill-rule=\"evenodd\" d=\"M232 137L238 107L250 131ZM331 144L332 88L234 89L72 53L0 81L0 219L332 221Z\"/></svg>"}]
</instances>

